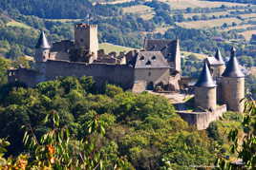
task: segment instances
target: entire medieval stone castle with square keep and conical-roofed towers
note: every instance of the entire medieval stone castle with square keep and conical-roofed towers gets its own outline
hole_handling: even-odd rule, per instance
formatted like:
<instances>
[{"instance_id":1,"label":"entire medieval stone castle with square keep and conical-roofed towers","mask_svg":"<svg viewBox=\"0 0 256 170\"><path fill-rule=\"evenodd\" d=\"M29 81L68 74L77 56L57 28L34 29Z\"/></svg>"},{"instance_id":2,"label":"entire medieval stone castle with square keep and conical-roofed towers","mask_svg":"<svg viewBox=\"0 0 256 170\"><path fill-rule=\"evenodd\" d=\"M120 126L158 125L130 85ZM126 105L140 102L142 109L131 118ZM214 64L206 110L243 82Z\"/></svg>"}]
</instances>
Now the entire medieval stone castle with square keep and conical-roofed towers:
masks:
<instances>
[{"instance_id":1,"label":"entire medieval stone castle with square keep and conical-roofed towers","mask_svg":"<svg viewBox=\"0 0 256 170\"><path fill-rule=\"evenodd\" d=\"M64 40L53 45L42 31L35 46L32 68L10 69L8 75L9 82L19 81L29 86L57 77L92 76L98 86L109 83L134 92L156 87L179 92L187 84L181 77L179 40L145 39L140 51L106 54L98 49L97 26L88 24L75 25L75 41ZM214 57L206 58L201 76L194 85L194 95L195 110L203 113L223 113L225 106L228 110L243 111L245 75L234 48L226 66L219 49ZM218 111L220 104L224 105L222 111Z\"/></svg>"}]
</instances>

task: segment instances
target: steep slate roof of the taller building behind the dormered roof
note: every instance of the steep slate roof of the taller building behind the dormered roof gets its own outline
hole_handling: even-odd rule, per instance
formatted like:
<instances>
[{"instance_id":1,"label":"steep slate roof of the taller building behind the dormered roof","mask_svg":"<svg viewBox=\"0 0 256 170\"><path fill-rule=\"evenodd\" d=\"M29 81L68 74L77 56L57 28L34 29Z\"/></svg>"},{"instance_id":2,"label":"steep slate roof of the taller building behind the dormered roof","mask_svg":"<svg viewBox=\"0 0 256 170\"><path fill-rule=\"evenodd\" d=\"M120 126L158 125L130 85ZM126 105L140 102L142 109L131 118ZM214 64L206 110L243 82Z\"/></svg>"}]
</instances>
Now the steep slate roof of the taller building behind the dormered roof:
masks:
<instances>
[{"instance_id":1,"label":"steep slate roof of the taller building behind the dormered roof","mask_svg":"<svg viewBox=\"0 0 256 170\"><path fill-rule=\"evenodd\" d=\"M179 40L145 39L144 49L147 51L161 51L163 56L170 62L174 62L177 54Z\"/></svg>"}]
</instances>

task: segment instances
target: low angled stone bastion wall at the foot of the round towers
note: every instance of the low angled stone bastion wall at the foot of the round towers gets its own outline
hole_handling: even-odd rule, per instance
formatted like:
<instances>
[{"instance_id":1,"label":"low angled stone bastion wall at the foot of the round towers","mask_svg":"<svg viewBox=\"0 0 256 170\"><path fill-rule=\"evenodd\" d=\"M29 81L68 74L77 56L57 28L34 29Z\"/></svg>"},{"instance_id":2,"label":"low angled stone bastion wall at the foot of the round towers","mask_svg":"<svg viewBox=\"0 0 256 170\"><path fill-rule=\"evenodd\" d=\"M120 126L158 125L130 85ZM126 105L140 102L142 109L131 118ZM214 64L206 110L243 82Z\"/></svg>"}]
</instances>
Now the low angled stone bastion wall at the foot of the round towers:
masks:
<instances>
[{"instance_id":1,"label":"low angled stone bastion wall at the foot of the round towers","mask_svg":"<svg viewBox=\"0 0 256 170\"><path fill-rule=\"evenodd\" d=\"M177 112L181 118L189 123L195 125L198 130L206 129L210 123L219 120L224 112L226 112L226 105L218 106L214 112Z\"/></svg>"}]
</instances>

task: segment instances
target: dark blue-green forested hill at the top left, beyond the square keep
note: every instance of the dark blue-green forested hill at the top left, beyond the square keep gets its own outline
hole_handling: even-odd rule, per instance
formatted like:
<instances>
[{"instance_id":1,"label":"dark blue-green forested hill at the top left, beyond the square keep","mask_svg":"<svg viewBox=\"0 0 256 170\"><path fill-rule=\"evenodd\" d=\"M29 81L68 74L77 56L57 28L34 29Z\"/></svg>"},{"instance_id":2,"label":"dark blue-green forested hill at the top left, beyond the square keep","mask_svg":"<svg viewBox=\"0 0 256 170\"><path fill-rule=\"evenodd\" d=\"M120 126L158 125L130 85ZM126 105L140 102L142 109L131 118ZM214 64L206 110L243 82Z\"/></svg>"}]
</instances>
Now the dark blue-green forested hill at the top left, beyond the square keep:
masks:
<instances>
[{"instance_id":1,"label":"dark blue-green forested hill at the top left, beyond the square keep","mask_svg":"<svg viewBox=\"0 0 256 170\"><path fill-rule=\"evenodd\" d=\"M88 14L114 15L117 12L117 9L93 6L88 0L1 0L0 9L52 19L85 18Z\"/></svg>"}]
</instances>

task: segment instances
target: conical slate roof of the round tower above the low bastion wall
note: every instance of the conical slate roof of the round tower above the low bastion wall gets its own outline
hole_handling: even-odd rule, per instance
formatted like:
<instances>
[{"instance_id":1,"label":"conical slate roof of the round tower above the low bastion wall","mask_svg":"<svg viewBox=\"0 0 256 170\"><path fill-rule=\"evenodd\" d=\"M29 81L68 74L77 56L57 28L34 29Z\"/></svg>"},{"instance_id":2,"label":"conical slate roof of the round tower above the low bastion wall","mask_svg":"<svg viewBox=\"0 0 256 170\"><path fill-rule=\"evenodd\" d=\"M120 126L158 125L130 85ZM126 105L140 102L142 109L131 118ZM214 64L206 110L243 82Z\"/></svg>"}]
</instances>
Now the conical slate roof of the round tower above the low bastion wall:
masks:
<instances>
[{"instance_id":1,"label":"conical slate roof of the round tower above the low bastion wall","mask_svg":"<svg viewBox=\"0 0 256 170\"><path fill-rule=\"evenodd\" d=\"M204 61L203 70L202 70L201 75L199 77L199 80L198 80L198 82L196 83L195 86L203 86L203 87L215 87L215 86L217 86L216 83L212 79L210 69L209 69L206 61Z\"/></svg>"}]
</instances>

